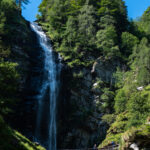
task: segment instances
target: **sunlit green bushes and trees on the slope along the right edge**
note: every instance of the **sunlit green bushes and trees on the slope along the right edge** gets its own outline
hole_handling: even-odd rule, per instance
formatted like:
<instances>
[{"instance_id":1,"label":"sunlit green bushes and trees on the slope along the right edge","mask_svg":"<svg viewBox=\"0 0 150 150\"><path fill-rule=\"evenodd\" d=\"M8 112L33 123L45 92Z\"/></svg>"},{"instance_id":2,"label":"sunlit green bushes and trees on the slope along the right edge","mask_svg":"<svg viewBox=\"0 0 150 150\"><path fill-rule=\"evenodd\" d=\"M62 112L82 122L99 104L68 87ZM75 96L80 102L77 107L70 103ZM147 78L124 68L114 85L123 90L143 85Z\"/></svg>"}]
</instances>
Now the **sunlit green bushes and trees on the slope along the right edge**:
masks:
<instances>
[{"instance_id":1,"label":"sunlit green bushes and trees on the slope along the right edge","mask_svg":"<svg viewBox=\"0 0 150 150\"><path fill-rule=\"evenodd\" d=\"M140 148L149 146L149 122L145 125L150 114L149 10L150 8L138 21L131 22L133 31L122 32L120 50L121 55L125 56L128 68L118 68L114 73L115 86L118 88L114 108L117 118L122 114L127 115L121 122L116 119L110 125L106 139L100 147L108 145L110 140L120 143L122 149L129 149L128 145L132 141L139 143ZM122 141L117 136L122 137Z\"/></svg>"}]
</instances>

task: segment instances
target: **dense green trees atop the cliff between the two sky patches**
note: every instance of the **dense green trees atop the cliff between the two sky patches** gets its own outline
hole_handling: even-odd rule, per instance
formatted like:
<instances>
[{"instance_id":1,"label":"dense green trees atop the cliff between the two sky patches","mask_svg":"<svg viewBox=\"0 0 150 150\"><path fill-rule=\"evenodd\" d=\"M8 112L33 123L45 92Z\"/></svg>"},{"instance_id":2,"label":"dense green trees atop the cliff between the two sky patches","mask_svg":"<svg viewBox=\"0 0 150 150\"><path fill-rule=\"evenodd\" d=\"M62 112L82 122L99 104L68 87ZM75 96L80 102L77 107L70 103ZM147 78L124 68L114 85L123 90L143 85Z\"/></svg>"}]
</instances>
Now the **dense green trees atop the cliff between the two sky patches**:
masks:
<instances>
[{"instance_id":1,"label":"dense green trees atop the cliff between the two sky patches","mask_svg":"<svg viewBox=\"0 0 150 150\"><path fill-rule=\"evenodd\" d=\"M88 66L99 56L121 57L118 33L128 22L123 1L44 0L39 12L39 23L46 24L44 29L69 66ZM118 28L120 19L124 24Z\"/></svg>"}]
</instances>

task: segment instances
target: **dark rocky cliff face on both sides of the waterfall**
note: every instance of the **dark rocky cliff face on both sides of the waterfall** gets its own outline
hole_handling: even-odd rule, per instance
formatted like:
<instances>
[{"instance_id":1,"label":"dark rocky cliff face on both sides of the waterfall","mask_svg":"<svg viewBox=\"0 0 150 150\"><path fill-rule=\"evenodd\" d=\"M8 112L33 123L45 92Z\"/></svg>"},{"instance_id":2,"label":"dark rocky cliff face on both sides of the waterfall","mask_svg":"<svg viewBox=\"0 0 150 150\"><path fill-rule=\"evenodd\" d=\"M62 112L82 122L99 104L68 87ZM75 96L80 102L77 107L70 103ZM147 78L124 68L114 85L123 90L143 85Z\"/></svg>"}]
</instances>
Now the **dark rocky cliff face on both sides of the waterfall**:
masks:
<instances>
[{"instance_id":1,"label":"dark rocky cliff face on both sides of the waterfall","mask_svg":"<svg viewBox=\"0 0 150 150\"><path fill-rule=\"evenodd\" d=\"M12 58L19 64L21 73L19 93L22 99L17 105L16 119L12 122L33 140L36 117L34 95L38 93L42 80L43 54L29 24L25 40L13 46L12 50ZM102 58L89 67L69 68L65 62L62 63L62 88L57 113L58 148L92 147L104 139L107 130L107 125L101 121L103 113L97 107L103 93L98 86L99 80L107 86L113 86L113 73L120 63L118 60L104 61Z\"/></svg>"}]
</instances>

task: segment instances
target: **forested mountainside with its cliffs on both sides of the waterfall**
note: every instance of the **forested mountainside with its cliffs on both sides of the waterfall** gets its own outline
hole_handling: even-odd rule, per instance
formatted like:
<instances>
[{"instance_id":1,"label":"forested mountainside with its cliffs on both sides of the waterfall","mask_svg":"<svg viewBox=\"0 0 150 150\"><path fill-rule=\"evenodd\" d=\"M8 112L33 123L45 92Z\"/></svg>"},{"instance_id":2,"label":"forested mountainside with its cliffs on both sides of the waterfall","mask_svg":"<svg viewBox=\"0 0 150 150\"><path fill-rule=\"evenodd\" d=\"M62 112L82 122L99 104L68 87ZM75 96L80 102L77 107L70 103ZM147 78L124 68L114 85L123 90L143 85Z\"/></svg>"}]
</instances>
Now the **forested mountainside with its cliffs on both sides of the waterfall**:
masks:
<instances>
[{"instance_id":1,"label":"forested mountainside with its cliffs on both sides of the waterfall","mask_svg":"<svg viewBox=\"0 0 150 150\"><path fill-rule=\"evenodd\" d=\"M2 150L43 149L10 127L35 52L21 16L27 2L0 0ZM65 65L58 144L150 147L150 7L137 20L128 19L123 0L43 0L39 12L37 22Z\"/></svg>"}]
</instances>

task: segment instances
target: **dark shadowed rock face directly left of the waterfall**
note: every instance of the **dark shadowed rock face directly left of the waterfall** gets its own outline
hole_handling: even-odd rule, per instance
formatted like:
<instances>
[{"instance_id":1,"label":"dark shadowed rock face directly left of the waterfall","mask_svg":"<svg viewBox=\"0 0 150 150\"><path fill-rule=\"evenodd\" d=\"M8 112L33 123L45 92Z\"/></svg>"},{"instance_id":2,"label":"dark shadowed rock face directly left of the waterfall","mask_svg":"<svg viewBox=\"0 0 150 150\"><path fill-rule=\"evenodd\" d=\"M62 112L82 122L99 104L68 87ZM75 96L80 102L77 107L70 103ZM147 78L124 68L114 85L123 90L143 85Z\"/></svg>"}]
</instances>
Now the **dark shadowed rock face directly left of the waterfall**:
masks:
<instances>
[{"instance_id":1,"label":"dark shadowed rock face directly left of the waterfall","mask_svg":"<svg viewBox=\"0 0 150 150\"><path fill-rule=\"evenodd\" d=\"M18 63L20 85L18 89L18 104L10 118L11 125L32 139L35 120L35 100L33 95L38 92L38 85L43 73L43 53L37 42L37 37L26 22L26 30L18 31L24 39L19 39L12 45L10 59Z\"/></svg>"}]
</instances>

